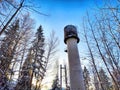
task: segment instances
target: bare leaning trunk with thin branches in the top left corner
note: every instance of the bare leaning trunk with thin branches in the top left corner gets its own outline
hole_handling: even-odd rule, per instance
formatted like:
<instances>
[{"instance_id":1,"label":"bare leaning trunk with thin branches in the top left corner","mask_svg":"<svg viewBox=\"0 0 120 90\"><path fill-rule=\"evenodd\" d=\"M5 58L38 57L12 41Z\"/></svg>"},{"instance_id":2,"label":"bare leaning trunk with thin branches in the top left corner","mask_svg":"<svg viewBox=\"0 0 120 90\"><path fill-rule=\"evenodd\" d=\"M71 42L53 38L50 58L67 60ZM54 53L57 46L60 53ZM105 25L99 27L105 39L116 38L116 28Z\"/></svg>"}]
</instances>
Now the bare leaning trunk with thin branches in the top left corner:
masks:
<instances>
[{"instance_id":1,"label":"bare leaning trunk with thin branches in the top left corner","mask_svg":"<svg viewBox=\"0 0 120 90\"><path fill-rule=\"evenodd\" d=\"M0 21L1 22L1 26L0 26L0 28L1 28L1 30L0 30L0 35L7 29L7 27L8 27L8 25L12 22L12 20L13 19L15 19L15 17L18 15L18 13L20 12L21 13L21 11L34 11L35 13L38 13L39 15L44 15L44 16L48 16L48 15L46 15L46 14L43 14L43 13L41 13L39 10L38 10L38 8L40 8L40 7L36 7L36 6L34 6L34 4L33 3L31 3L31 2L27 2L27 4L26 4L26 0L20 0L20 2L18 2L17 4L15 4L15 3L13 3L13 1L12 0L4 0L4 1L1 1L0 2L0 4L2 4L2 2L4 3L7 3L7 4L9 4L10 6L12 6L14 9L12 9L11 11L13 11L13 10L15 10L15 12L11 15L11 11L9 12L9 14L8 15L6 15L5 17L5 19L3 20L3 21ZM32 5L33 4L33 5ZM7 5L4 5L3 4L3 6L7 6ZM4 7L5 8L5 7ZM23 10L24 9L24 10ZM21 14L20 14L21 15ZM20 16L19 15L19 16ZM9 17L9 18L8 18ZM8 20L7 20L8 19ZM6 22L6 24L4 25L4 23Z\"/></svg>"}]
</instances>

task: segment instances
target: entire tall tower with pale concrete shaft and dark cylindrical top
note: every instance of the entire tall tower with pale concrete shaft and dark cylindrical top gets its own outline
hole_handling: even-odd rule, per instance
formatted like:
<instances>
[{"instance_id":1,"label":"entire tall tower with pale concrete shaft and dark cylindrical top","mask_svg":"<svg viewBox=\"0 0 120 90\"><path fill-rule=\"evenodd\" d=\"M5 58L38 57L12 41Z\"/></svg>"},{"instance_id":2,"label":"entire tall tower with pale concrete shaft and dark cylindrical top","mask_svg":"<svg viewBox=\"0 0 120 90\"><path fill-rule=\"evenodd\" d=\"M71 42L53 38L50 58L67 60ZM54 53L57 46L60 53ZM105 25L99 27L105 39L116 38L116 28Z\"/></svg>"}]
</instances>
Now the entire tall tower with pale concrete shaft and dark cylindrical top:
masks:
<instances>
[{"instance_id":1,"label":"entire tall tower with pale concrete shaft and dark cylindrical top","mask_svg":"<svg viewBox=\"0 0 120 90\"><path fill-rule=\"evenodd\" d=\"M79 38L75 26L67 25L64 28L64 42L67 44L69 59L70 90L85 90L83 72L77 47Z\"/></svg>"}]
</instances>

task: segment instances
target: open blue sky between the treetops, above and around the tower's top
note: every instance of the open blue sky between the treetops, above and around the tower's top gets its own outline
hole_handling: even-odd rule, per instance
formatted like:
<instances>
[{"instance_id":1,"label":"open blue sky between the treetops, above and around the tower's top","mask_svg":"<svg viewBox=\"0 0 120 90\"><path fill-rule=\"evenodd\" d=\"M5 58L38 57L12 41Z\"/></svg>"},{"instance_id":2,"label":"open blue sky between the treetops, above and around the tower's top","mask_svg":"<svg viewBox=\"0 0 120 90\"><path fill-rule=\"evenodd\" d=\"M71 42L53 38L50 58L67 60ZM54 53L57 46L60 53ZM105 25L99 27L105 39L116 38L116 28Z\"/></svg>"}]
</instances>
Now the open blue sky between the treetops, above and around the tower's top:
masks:
<instances>
[{"instance_id":1,"label":"open blue sky between the treetops, above and around the tower's top","mask_svg":"<svg viewBox=\"0 0 120 90\"><path fill-rule=\"evenodd\" d=\"M46 37L52 30L56 32L60 39L61 53L65 48L64 27L73 24L80 31L83 16L87 10L89 11L95 6L94 0L35 0L34 3L41 7L40 12L49 15L42 16L32 13L32 18L36 20L36 27L41 24Z\"/></svg>"}]
</instances>

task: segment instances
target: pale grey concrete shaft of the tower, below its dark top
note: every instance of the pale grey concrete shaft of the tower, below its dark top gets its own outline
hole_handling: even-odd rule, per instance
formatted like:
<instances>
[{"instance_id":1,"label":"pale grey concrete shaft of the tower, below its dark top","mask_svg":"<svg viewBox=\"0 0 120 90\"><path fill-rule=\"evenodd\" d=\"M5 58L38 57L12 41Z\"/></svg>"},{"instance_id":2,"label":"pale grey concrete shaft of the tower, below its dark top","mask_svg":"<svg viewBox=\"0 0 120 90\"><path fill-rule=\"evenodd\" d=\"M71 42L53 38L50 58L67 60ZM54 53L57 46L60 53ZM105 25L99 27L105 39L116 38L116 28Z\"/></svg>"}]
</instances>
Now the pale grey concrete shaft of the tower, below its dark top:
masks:
<instances>
[{"instance_id":1,"label":"pale grey concrete shaft of the tower, below its dark top","mask_svg":"<svg viewBox=\"0 0 120 90\"><path fill-rule=\"evenodd\" d=\"M71 90L85 90L83 73L77 48L77 39L67 40Z\"/></svg>"}]
</instances>

